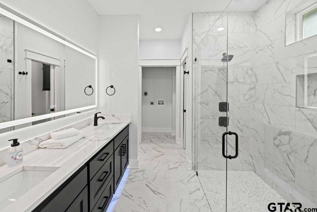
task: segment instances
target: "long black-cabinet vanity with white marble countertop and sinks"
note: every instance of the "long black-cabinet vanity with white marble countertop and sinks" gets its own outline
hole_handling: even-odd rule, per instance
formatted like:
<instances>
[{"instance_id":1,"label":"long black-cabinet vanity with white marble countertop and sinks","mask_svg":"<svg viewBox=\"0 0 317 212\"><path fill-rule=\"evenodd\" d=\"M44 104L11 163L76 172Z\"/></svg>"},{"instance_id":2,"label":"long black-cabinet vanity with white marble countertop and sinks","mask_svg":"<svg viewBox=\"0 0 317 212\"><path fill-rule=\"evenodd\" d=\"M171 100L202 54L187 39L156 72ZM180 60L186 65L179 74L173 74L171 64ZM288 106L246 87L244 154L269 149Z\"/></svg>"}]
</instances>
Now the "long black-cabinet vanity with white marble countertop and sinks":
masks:
<instances>
[{"instance_id":1,"label":"long black-cabinet vanity with white marble countertop and sinks","mask_svg":"<svg viewBox=\"0 0 317 212\"><path fill-rule=\"evenodd\" d=\"M77 127L86 136L71 146L39 148L22 165L0 167L0 186L15 182L0 192L1 211L106 211L129 164L129 123L87 120Z\"/></svg>"}]
</instances>

